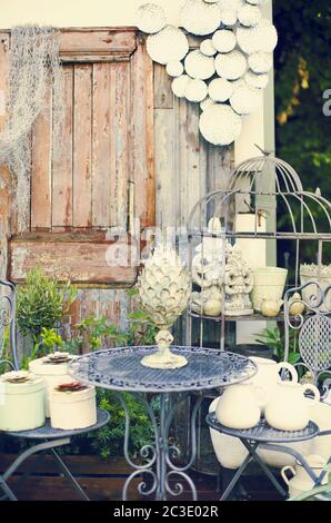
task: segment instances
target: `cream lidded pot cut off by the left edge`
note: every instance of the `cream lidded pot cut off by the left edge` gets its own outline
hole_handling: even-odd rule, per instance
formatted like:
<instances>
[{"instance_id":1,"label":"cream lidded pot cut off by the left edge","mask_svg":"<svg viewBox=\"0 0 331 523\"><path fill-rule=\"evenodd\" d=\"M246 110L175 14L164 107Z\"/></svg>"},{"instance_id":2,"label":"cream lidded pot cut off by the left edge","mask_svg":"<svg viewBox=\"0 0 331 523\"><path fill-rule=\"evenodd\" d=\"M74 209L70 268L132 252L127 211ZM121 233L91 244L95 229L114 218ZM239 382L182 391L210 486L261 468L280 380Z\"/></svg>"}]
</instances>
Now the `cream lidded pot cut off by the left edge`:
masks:
<instances>
[{"instance_id":1,"label":"cream lidded pot cut off by the left edge","mask_svg":"<svg viewBox=\"0 0 331 523\"><path fill-rule=\"evenodd\" d=\"M40 377L26 383L0 381L0 431L32 431L44 424L44 385Z\"/></svg>"}]
</instances>

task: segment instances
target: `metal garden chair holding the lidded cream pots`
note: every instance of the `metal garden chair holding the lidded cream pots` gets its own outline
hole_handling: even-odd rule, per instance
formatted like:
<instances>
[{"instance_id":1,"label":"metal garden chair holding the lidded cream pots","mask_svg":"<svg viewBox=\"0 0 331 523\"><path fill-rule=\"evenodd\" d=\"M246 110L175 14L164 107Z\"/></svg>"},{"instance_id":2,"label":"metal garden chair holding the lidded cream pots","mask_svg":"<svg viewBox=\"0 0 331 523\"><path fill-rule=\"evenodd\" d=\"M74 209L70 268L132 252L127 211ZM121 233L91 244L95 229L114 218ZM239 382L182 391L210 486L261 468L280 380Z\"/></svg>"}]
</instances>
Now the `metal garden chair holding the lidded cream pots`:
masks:
<instances>
[{"instance_id":1,"label":"metal garden chair holding the lidded cream pots","mask_svg":"<svg viewBox=\"0 0 331 523\"><path fill-rule=\"evenodd\" d=\"M18 371L19 359L16 345L16 286L10 282L0 280L0 364L2 366L8 366L13 371ZM3 357L6 328L9 328L10 333L10 359L8 357ZM86 492L71 474L56 448L70 444L71 438L78 434L97 431L98 428L106 425L109 422L109 418L110 416L108 412L98 408L97 423L96 425L88 428L78 431L56 430L51 427L50 421L47 420L42 427L36 428L33 431L4 432L3 434L10 437L26 440L27 442L31 443L31 446L20 453L13 463L9 466L9 468L2 475L0 475L0 491L2 490L3 492L3 496L0 497L0 500L9 499L11 501L17 501L16 494L8 485L8 480L29 456L38 452L50 451L59 466L60 472L71 482L73 489L79 493L79 495L83 500L88 501L89 499Z\"/></svg>"}]
</instances>

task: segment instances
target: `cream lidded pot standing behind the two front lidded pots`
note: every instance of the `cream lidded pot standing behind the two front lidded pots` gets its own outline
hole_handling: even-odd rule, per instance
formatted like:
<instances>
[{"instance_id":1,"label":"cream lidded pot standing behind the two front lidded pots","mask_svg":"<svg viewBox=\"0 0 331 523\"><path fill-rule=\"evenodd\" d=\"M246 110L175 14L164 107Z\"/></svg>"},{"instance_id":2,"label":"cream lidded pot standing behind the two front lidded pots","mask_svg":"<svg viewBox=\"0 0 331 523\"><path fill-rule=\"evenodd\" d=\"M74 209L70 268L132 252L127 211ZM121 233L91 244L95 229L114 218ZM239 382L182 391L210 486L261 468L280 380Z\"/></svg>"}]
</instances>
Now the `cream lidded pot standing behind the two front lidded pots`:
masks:
<instances>
[{"instance_id":1,"label":"cream lidded pot standing behind the two front lidded pots","mask_svg":"<svg viewBox=\"0 0 331 523\"><path fill-rule=\"evenodd\" d=\"M69 361L70 359L69 357ZM44 412L46 417L50 417L50 391L61 383L72 382L72 377L68 374L68 363L54 363L54 361L50 361L50 358L46 356L30 362L29 371L36 376L40 376L44 382Z\"/></svg>"}]
</instances>

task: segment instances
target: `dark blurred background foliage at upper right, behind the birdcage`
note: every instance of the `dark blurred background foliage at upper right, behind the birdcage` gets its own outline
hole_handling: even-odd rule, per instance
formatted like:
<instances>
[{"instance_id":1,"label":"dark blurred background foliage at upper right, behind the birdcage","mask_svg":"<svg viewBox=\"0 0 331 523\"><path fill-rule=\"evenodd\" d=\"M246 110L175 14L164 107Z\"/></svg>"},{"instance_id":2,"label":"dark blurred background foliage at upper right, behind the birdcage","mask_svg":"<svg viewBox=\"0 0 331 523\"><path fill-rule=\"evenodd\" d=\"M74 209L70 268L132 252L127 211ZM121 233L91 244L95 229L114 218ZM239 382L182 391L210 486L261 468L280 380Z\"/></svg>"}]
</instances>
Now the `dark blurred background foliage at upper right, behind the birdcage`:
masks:
<instances>
[{"instance_id":1,"label":"dark blurred background foliage at upper right, behind the birdcage","mask_svg":"<svg viewBox=\"0 0 331 523\"><path fill-rule=\"evenodd\" d=\"M274 0L273 11L279 31L277 155L294 167L305 190L320 187L322 196L331 199L331 117L323 115L323 92L331 89L330 0ZM325 229L321 210L314 208L313 214ZM279 221L279 227L289 226L281 211ZM315 244L305 241L302 247L302 259L314 262Z\"/></svg>"}]
</instances>

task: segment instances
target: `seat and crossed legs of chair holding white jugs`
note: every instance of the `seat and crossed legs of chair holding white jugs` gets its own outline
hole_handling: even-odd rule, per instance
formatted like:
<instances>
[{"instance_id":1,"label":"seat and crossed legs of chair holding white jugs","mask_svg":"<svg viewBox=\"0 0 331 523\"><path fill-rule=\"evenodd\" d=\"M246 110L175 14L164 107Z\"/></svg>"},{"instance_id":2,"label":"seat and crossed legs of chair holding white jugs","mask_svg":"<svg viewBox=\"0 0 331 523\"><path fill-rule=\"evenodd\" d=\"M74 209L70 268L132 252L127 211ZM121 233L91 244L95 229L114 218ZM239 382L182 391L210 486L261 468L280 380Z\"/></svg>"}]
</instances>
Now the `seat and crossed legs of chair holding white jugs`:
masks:
<instances>
[{"instance_id":1,"label":"seat and crossed legs of chair holding white jugs","mask_svg":"<svg viewBox=\"0 0 331 523\"><path fill-rule=\"evenodd\" d=\"M287 492L279 483L274 474L258 455L258 448L281 452L295 457L299 463L301 463L302 466L305 468L307 473L310 475L313 482L317 485L321 484L325 473L322 472L320 476L317 476L313 470L307 463L305 458L299 452L285 446L288 443L303 442L307 440L312 440L313 437L319 435L319 427L313 422L309 422L309 425L302 431L287 432L277 431L275 428L272 428L268 425L264 418L261 418L255 427L242 431L229 428L219 423L214 412L208 414L205 420L211 428L214 428L215 431L221 432L223 434L228 434L229 436L239 437L241 443L248 450L248 455L245 460L242 462L241 466L234 474L232 481L223 492L221 501L225 501L230 496L231 492L233 491L234 486L237 485L238 481L240 480L251 461L258 463L267 475L267 477L269 477L273 486L278 490L278 492L283 497L287 496Z\"/></svg>"}]
</instances>

